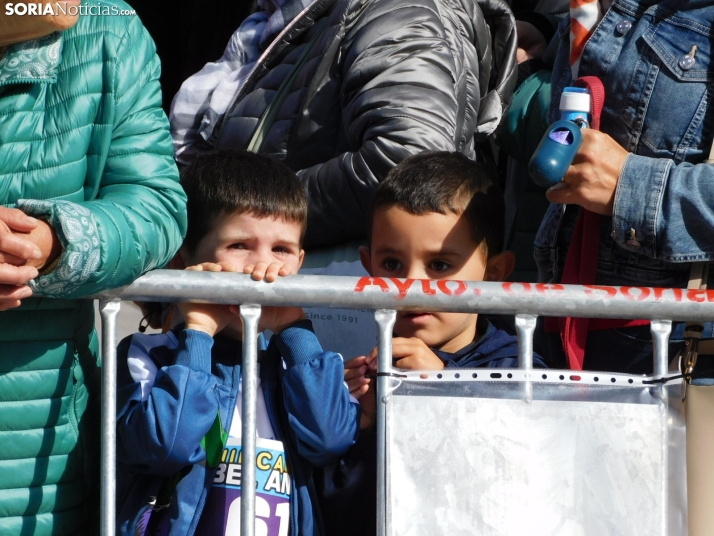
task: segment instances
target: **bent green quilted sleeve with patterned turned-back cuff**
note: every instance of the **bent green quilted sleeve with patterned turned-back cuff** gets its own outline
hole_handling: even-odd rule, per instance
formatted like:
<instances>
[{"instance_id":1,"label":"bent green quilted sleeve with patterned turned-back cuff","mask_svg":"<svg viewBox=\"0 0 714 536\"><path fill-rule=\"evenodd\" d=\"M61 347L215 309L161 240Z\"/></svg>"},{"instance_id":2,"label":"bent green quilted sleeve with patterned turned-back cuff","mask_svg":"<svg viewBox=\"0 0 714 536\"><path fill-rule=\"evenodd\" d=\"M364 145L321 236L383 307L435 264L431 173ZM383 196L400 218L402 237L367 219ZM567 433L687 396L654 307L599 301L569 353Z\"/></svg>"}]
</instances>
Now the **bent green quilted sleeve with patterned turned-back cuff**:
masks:
<instances>
[{"instance_id":1,"label":"bent green quilted sleeve with patterned turned-back cuff","mask_svg":"<svg viewBox=\"0 0 714 536\"><path fill-rule=\"evenodd\" d=\"M128 284L167 263L186 230L154 44L137 17L109 18L129 22L107 30L121 33L105 41L116 49L102 74L113 121L94 125L111 130L106 147L89 156L104 159L99 187L83 203L18 202L47 219L64 248L56 268L31 283L39 295L71 298Z\"/></svg>"}]
</instances>

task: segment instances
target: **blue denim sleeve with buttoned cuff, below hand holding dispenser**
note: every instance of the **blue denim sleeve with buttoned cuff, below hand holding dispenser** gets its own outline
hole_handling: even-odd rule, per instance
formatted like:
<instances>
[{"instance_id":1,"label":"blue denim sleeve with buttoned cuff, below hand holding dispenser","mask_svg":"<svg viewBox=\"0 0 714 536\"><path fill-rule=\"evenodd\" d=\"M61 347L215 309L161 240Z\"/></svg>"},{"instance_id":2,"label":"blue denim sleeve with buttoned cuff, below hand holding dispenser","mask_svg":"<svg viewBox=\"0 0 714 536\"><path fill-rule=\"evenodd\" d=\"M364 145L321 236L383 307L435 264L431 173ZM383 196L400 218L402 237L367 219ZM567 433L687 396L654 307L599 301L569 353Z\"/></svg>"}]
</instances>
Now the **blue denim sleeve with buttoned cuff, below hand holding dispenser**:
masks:
<instances>
[{"instance_id":1,"label":"blue denim sleeve with buttoned cuff, below hand holding dispenser","mask_svg":"<svg viewBox=\"0 0 714 536\"><path fill-rule=\"evenodd\" d=\"M620 172L612 236L668 262L714 260L714 165L630 154Z\"/></svg>"}]
</instances>

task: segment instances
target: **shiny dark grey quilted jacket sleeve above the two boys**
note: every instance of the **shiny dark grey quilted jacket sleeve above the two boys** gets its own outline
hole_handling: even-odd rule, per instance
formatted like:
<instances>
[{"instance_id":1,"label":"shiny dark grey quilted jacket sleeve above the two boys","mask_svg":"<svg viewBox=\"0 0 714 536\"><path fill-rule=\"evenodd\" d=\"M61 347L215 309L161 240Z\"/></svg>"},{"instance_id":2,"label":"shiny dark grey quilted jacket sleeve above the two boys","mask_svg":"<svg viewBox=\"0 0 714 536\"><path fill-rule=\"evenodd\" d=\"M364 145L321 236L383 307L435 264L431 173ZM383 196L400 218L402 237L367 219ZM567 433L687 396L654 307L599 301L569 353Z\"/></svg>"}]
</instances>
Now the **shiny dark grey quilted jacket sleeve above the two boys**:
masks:
<instances>
[{"instance_id":1,"label":"shiny dark grey quilted jacket sleeve above the two boys","mask_svg":"<svg viewBox=\"0 0 714 536\"><path fill-rule=\"evenodd\" d=\"M466 79L433 2L371 2L342 50L342 124L355 150L299 172L308 246L364 235L372 195L392 167L422 151L458 150L464 124L471 134L476 125L478 84L460 87ZM458 102L467 93L469 103Z\"/></svg>"}]
</instances>

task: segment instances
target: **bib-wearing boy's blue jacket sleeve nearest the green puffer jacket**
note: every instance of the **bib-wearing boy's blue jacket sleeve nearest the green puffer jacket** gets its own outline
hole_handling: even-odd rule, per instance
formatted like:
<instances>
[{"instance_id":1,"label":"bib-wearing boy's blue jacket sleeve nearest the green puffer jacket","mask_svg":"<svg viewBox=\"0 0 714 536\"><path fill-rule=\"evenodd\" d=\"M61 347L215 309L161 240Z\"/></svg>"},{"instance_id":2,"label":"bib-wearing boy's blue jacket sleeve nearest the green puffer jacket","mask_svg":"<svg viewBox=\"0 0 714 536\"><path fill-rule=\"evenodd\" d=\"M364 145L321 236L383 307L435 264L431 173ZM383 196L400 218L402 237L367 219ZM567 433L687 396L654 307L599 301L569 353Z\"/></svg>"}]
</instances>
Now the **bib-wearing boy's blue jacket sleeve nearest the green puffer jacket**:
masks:
<instances>
[{"instance_id":1,"label":"bib-wearing boy's blue jacket sleeve nearest the green puffer jacket","mask_svg":"<svg viewBox=\"0 0 714 536\"><path fill-rule=\"evenodd\" d=\"M128 353L119 347L121 357ZM213 339L194 330L178 335L172 365L156 370L148 391L120 360L117 392L117 460L145 474L170 476L202 461L201 439L218 414L211 374ZM161 350L168 351L167 348ZM149 357L148 355L146 357ZM142 390L145 392L142 396Z\"/></svg>"}]
</instances>

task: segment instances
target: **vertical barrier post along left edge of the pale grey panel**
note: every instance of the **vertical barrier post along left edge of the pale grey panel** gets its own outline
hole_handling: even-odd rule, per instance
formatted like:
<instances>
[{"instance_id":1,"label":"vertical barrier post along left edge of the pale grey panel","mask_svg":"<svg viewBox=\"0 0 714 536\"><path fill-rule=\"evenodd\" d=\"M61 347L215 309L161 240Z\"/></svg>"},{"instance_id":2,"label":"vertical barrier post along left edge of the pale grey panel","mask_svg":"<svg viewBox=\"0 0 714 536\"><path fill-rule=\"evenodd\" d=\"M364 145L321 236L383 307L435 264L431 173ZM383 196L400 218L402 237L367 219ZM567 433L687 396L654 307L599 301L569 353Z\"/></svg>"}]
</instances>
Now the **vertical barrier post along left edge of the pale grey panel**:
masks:
<instances>
[{"instance_id":1,"label":"vertical barrier post along left edge of the pale grey panel","mask_svg":"<svg viewBox=\"0 0 714 536\"><path fill-rule=\"evenodd\" d=\"M389 536L391 529L387 505L387 402L389 373L392 370L392 329L397 312L379 309L374 313L377 323L377 536Z\"/></svg>"}]
</instances>

